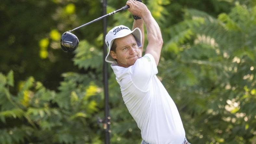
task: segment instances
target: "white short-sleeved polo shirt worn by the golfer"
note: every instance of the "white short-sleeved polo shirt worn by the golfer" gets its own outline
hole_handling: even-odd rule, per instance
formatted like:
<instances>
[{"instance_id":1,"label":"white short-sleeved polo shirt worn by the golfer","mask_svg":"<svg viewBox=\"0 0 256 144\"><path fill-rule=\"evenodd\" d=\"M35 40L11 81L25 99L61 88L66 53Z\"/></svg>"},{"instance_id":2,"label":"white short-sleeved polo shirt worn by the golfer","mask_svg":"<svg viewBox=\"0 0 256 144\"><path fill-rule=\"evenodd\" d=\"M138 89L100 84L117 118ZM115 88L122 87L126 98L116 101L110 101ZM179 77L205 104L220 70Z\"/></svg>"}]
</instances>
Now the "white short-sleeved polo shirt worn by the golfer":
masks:
<instances>
[{"instance_id":1,"label":"white short-sleeved polo shirt worn by the golfer","mask_svg":"<svg viewBox=\"0 0 256 144\"><path fill-rule=\"evenodd\" d=\"M150 144L182 144L185 130L175 103L156 77L153 56L146 54L127 68L116 62L111 67L142 139Z\"/></svg>"}]
</instances>

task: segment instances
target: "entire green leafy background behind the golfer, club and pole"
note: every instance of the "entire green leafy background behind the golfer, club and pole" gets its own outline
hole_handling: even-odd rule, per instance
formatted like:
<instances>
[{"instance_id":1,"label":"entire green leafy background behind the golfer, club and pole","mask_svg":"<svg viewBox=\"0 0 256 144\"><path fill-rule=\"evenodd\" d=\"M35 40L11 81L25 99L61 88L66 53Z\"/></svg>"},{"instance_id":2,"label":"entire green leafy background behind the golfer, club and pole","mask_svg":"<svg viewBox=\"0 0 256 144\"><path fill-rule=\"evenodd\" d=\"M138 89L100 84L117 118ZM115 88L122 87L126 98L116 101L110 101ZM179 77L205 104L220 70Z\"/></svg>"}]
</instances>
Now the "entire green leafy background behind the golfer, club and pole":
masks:
<instances>
[{"instance_id":1,"label":"entire green leafy background behind the golfer, club and pole","mask_svg":"<svg viewBox=\"0 0 256 144\"><path fill-rule=\"evenodd\" d=\"M125 2L109 0L107 11ZM255 143L256 3L143 2L164 39L157 76L190 143ZM102 22L74 32L80 44L73 54L59 46L61 33L101 16L100 9L100 1L88 0L1 2L1 144L104 142L103 124L97 124L104 117ZM129 11L116 13L108 30L132 23ZM111 143L140 143L108 71Z\"/></svg>"}]
</instances>

